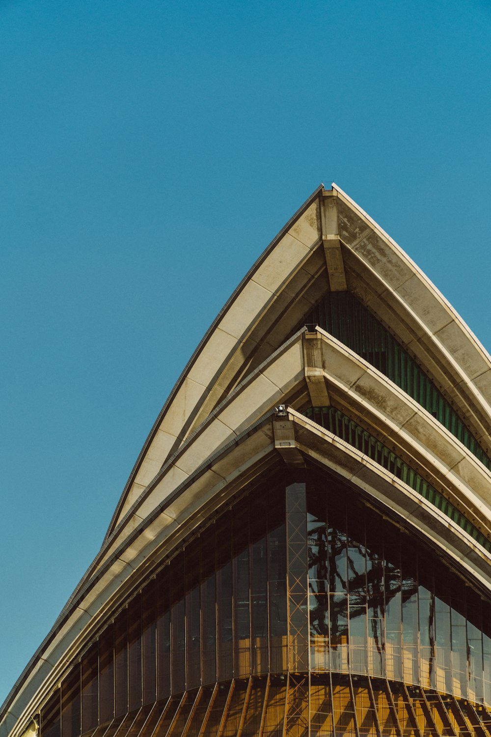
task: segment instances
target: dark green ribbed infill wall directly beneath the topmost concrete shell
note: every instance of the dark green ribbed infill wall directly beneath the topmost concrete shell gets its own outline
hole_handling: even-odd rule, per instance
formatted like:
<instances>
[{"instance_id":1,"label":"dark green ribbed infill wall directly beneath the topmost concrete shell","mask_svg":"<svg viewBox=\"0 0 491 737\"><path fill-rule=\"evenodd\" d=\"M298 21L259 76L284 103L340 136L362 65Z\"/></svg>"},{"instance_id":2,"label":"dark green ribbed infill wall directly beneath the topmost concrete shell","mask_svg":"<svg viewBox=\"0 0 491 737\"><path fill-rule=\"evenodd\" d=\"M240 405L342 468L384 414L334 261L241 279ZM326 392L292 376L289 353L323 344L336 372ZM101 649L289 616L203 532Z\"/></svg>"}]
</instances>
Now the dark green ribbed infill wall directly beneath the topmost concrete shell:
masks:
<instances>
[{"instance_id":1,"label":"dark green ribbed infill wall directly beneath the topmost concrete shell","mask_svg":"<svg viewBox=\"0 0 491 737\"><path fill-rule=\"evenodd\" d=\"M378 368L445 425L484 466L491 460L414 358L350 292L329 292L306 318Z\"/></svg>"}]
</instances>

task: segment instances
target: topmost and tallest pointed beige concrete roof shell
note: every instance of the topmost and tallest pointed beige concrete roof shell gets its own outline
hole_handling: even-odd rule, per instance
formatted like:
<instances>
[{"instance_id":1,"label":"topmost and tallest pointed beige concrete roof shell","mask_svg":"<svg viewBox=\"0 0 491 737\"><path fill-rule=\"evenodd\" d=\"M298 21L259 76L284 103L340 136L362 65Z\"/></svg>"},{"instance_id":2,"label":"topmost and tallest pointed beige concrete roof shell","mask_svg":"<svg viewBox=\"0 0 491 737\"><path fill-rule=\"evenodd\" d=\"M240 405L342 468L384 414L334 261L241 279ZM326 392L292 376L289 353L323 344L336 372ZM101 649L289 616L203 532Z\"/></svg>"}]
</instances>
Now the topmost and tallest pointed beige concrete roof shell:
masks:
<instances>
[{"instance_id":1,"label":"topmost and tallest pointed beige concrete roof shell","mask_svg":"<svg viewBox=\"0 0 491 737\"><path fill-rule=\"evenodd\" d=\"M333 184L294 214L199 343L138 456L108 536L166 458L336 279L423 363L484 450L491 447L489 354L409 256Z\"/></svg>"}]
</instances>

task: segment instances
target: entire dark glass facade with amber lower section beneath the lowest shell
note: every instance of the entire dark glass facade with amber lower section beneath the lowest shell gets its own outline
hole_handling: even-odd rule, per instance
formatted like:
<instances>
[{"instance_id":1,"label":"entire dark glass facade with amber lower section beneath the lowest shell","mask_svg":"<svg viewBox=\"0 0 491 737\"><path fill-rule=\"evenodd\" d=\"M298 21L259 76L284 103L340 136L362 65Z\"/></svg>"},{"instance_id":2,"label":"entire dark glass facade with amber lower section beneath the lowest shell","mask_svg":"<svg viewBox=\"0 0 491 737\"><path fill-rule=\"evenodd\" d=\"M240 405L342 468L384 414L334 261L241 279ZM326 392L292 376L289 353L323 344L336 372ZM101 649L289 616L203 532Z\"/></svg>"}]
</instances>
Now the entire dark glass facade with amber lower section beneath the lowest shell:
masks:
<instances>
[{"instance_id":1,"label":"entire dark glass facade with amber lower section beneath the lowest shell","mask_svg":"<svg viewBox=\"0 0 491 737\"><path fill-rule=\"evenodd\" d=\"M277 469L114 613L40 737L481 736L486 707L490 602L344 482Z\"/></svg>"}]
</instances>

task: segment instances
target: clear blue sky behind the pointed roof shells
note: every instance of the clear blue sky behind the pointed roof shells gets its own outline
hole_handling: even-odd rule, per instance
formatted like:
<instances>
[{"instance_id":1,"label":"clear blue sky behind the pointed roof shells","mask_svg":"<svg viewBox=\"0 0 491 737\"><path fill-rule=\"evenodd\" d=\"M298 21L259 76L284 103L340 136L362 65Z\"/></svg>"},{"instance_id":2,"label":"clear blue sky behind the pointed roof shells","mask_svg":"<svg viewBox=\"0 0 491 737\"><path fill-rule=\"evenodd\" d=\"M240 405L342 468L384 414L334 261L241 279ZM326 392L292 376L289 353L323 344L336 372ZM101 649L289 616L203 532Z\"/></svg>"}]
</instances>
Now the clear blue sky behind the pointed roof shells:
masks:
<instances>
[{"instance_id":1,"label":"clear blue sky behind the pointed roof shells","mask_svg":"<svg viewBox=\"0 0 491 737\"><path fill-rule=\"evenodd\" d=\"M491 348L490 0L0 0L0 702L320 181Z\"/></svg>"}]
</instances>

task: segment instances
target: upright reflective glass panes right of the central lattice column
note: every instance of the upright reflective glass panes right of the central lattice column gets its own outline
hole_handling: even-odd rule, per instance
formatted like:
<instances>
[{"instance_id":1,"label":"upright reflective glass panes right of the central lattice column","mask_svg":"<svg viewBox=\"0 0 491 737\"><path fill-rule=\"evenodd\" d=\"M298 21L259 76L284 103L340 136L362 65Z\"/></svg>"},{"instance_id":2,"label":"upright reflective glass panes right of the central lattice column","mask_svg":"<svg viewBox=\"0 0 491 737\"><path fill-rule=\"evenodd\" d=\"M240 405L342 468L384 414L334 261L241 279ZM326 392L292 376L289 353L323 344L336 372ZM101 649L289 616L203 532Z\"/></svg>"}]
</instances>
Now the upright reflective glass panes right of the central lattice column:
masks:
<instances>
[{"instance_id":1,"label":"upright reflective glass panes right of the central lattice column","mask_svg":"<svg viewBox=\"0 0 491 737\"><path fill-rule=\"evenodd\" d=\"M490 602L345 484L306 496L311 670L491 705Z\"/></svg>"}]
</instances>

